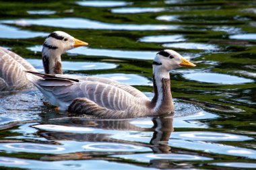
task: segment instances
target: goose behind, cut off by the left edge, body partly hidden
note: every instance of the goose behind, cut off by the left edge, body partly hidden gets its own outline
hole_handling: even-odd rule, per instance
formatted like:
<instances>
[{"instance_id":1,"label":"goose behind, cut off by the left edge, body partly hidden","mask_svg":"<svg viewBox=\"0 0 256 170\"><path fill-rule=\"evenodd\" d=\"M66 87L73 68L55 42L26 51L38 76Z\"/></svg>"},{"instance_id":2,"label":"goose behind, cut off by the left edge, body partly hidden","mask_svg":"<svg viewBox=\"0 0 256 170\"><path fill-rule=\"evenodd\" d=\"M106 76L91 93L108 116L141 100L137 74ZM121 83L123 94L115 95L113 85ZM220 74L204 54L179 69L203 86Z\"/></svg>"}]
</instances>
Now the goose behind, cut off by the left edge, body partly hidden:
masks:
<instances>
[{"instance_id":1,"label":"goose behind, cut off by the left edge, body partly hidden","mask_svg":"<svg viewBox=\"0 0 256 170\"><path fill-rule=\"evenodd\" d=\"M88 43L77 40L65 32L52 32L47 36L42 48L44 72L62 74L61 54L72 48L87 45ZM31 87L32 83L28 81L24 71L36 72L36 69L18 54L0 47L0 91Z\"/></svg>"}]
</instances>

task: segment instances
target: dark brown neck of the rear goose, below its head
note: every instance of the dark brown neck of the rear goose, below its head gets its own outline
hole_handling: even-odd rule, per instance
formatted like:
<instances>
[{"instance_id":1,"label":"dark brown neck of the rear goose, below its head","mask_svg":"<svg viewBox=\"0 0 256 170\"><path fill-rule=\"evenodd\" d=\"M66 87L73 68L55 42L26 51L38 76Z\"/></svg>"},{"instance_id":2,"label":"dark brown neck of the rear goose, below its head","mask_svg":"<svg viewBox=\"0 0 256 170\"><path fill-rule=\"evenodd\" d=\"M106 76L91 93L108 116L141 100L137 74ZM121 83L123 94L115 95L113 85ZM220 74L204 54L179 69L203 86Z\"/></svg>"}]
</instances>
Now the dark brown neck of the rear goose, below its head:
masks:
<instances>
[{"instance_id":1,"label":"dark brown neck of the rear goose, below its head","mask_svg":"<svg viewBox=\"0 0 256 170\"><path fill-rule=\"evenodd\" d=\"M61 65L61 54L57 48L49 49L43 46L42 48L42 65L46 74L63 74Z\"/></svg>"}]
</instances>

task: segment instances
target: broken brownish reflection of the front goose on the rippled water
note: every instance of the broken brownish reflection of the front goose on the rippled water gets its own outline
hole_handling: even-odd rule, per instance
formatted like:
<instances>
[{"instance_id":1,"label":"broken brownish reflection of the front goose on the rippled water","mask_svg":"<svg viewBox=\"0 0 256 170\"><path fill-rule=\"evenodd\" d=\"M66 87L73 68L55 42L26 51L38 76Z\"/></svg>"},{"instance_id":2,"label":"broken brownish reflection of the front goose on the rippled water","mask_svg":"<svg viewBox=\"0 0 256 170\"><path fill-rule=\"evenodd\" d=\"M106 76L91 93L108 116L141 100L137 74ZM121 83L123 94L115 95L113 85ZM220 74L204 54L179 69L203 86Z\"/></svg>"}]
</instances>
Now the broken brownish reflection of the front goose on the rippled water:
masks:
<instances>
[{"instance_id":1,"label":"broken brownish reflection of the front goose on the rippled water","mask_svg":"<svg viewBox=\"0 0 256 170\"><path fill-rule=\"evenodd\" d=\"M150 119L148 119L150 120ZM81 118L68 118L68 119L60 119L54 120L55 124L59 126L67 126L67 127L79 127L79 128L93 128L94 130L88 131L88 133L75 133L74 132L53 132L50 130L38 130L37 134L47 138L49 140L69 140L69 141L77 141L77 142L91 142L93 144L120 144L120 146L134 146L149 148L153 151L153 153L171 153L171 148L168 146L168 140L170 138L170 134L173 131L172 128L172 116L152 118L153 126L150 123L143 124L143 120L133 119L133 120L92 120L92 119L81 119ZM136 123L135 123L136 122ZM138 123L137 123L138 122ZM143 125L139 125L142 122ZM143 127L142 127L143 126ZM147 127L148 126L148 127ZM125 134L128 132L132 133L128 137L125 136L124 132L119 133L119 131L124 131ZM137 142L134 140L134 133L139 134L141 138L147 138L150 136L150 132L153 132L152 138L148 138L148 142ZM121 134L121 137L113 137L115 134ZM140 135L141 134L141 135ZM146 137L144 136L146 134ZM139 140L138 140L139 141ZM58 161L58 160L70 160L70 159L100 159L100 160L117 160L121 161L120 158L106 157L106 155L126 155L126 154L134 154L138 153L136 149L122 149L113 148L112 151L108 149L106 145L106 149L98 148L96 150L88 150L85 152L79 153L69 153L64 155L47 155L42 157L41 159L44 161ZM114 146L114 145L112 145ZM97 145L95 145L95 148ZM129 147L128 147L129 148ZM105 151L104 151L105 150ZM116 150L116 151L115 151ZM146 150L146 151L150 151ZM104 157L100 157L100 155L104 155ZM154 159L154 158L152 158ZM152 161L152 160L151 160ZM150 162L151 162L150 161ZM154 160L154 164L160 160Z\"/></svg>"}]
</instances>

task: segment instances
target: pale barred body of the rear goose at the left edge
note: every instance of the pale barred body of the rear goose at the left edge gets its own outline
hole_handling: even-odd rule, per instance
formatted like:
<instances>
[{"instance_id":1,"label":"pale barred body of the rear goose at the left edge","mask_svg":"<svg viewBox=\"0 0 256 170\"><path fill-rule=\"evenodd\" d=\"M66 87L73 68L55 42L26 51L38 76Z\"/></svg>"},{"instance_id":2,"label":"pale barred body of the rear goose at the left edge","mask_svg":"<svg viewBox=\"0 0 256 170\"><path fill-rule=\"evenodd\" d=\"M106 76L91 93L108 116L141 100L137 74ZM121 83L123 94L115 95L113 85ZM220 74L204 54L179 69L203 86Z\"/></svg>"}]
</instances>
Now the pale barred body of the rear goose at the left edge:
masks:
<instances>
[{"instance_id":1,"label":"pale barred body of the rear goose at the left edge","mask_svg":"<svg viewBox=\"0 0 256 170\"><path fill-rule=\"evenodd\" d=\"M22 58L22 60L20 59L21 57L19 57L20 56L13 52L0 48L1 91L21 89L30 85L26 73L24 72L29 65L26 65L26 62L23 61L24 59ZM15 58L18 58L18 60L15 60Z\"/></svg>"}]
</instances>

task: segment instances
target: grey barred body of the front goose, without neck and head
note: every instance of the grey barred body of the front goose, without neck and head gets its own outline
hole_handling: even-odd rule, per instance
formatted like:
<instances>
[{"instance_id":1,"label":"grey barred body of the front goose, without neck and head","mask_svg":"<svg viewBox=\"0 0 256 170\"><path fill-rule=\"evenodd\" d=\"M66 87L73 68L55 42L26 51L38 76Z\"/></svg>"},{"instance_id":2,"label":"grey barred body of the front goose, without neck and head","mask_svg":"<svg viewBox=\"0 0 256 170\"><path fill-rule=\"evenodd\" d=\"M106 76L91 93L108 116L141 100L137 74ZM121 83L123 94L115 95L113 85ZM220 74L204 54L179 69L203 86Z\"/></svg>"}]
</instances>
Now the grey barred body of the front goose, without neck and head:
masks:
<instances>
[{"instance_id":1,"label":"grey barred body of the front goose, without neck and head","mask_svg":"<svg viewBox=\"0 0 256 170\"><path fill-rule=\"evenodd\" d=\"M132 95L122 89L125 86L120 83L111 85L115 81L100 78L97 78L100 81L90 81L90 78L73 81L66 79L65 75L52 76L45 75L42 79L32 80L32 83L60 110L104 118L129 118L133 117L131 114L150 112L146 107L149 99Z\"/></svg>"}]
</instances>

